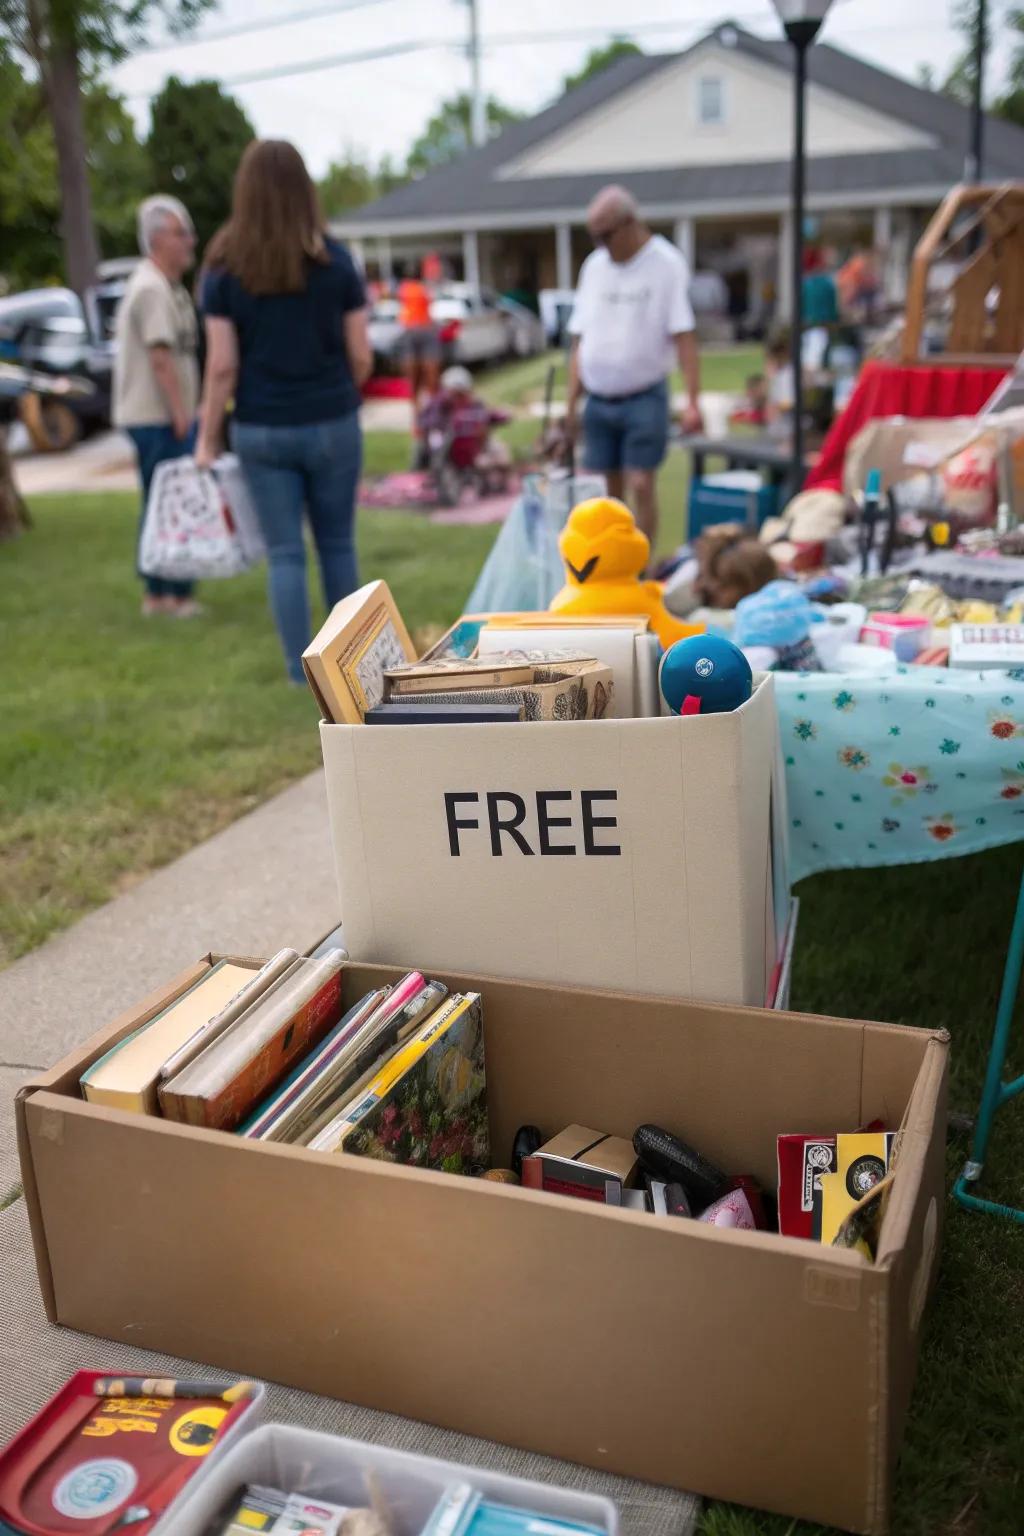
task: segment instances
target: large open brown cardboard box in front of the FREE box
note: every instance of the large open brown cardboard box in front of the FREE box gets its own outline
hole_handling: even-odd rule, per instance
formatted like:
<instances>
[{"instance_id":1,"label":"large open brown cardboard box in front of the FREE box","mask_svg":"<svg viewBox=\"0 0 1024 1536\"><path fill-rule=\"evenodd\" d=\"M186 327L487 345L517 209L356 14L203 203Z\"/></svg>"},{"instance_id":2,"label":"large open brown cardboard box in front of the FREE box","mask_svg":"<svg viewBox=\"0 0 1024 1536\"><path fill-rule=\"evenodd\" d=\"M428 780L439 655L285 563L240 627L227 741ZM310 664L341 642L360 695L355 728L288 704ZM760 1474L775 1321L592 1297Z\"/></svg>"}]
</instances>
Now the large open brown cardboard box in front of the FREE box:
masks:
<instances>
[{"instance_id":1,"label":"large open brown cardboard box in front of the FREE box","mask_svg":"<svg viewBox=\"0 0 1024 1536\"><path fill-rule=\"evenodd\" d=\"M606 1471L887 1528L938 1252L944 1032L441 972L484 995L497 1164L525 1121L622 1137L656 1121L771 1187L780 1130L901 1126L869 1264L84 1103L84 1068L212 958L18 1097L54 1322ZM345 966L345 998L398 975Z\"/></svg>"}]
</instances>

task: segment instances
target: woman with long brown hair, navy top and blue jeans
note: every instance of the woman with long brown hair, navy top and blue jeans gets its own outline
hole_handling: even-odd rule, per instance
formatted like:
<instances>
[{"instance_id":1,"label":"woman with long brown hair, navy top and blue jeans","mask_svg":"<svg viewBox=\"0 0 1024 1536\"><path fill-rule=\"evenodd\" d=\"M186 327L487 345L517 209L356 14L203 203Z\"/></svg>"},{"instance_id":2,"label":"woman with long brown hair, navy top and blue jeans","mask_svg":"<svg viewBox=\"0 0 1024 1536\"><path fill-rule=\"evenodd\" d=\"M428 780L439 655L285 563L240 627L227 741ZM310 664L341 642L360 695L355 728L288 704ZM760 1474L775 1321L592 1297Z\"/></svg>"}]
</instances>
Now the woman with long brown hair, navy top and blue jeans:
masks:
<instances>
[{"instance_id":1,"label":"woman with long brown hair, navy top and blue jeans","mask_svg":"<svg viewBox=\"0 0 1024 1536\"><path fill-rule=\"evenodd\" d=\"M203 266L207 353L197 461L216 458L233 396L232 445L267 541L270 610L289 677L302 682L306 516L327 607L359 584L359 386L372 367L362 278L327 235L298 149L276 138L246 149L232 217Z\"/></svg>"}]
</instances>

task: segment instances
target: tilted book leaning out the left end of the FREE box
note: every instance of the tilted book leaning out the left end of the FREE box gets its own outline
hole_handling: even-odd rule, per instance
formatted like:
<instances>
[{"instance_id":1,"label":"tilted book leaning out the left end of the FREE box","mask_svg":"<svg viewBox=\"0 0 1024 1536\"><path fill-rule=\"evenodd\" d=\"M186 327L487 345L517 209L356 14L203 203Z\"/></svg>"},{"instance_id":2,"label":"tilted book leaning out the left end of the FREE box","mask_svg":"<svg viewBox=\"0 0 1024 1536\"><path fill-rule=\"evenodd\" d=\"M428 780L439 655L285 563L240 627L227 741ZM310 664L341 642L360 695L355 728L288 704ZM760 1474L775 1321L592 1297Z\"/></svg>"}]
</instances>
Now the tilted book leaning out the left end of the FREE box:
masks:
<instances>
[{"instance_id":1,"label":"tilted book leaning out the left end of the FREE box","mask_svg":"<svg viewBox=\"0 0 1024 1536\"><path fill-rule=\"evenodd\" d=\"M387 582L372 581L335 604L302 653L302 668L325 720L359 725L384 699L384 673L416 660L416 648Z\"/></svg>"}]
</instances>

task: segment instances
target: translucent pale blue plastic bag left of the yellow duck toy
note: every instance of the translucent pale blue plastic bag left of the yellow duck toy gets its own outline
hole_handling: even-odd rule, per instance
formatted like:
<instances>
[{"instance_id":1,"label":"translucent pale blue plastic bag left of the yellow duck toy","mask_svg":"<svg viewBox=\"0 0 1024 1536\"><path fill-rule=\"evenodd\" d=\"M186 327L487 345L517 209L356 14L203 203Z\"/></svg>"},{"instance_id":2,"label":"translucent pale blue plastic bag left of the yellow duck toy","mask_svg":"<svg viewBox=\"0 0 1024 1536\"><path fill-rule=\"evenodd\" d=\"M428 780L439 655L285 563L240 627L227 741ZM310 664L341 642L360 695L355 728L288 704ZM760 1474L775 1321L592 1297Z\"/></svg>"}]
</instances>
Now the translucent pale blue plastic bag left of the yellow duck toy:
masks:
<instances>
[{"instance_id":1,"label":"translucent pale blue plastic bag left of the yellow duck toy","mask_svg":"<svg viewBox=\"0 0 1024 1536\"><path fill-rule=\"evenodd\" d=\"M580 501L600 496L594 475L527 475L465 604L467 613L540 613L565 585L559 533Z\"/></svg>"}]
</instances>

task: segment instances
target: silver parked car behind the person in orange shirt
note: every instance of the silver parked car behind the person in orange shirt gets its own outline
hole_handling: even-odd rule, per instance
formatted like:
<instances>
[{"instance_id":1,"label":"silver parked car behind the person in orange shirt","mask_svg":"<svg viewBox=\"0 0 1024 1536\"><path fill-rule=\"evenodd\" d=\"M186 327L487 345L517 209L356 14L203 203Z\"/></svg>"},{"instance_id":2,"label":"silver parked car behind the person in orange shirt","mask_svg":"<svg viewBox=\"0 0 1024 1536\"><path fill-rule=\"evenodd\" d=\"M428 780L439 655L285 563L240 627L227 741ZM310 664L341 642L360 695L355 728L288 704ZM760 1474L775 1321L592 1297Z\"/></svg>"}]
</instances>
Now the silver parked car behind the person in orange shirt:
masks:
<instances>
[{"instance_id":1,"label":"silver parked car behind the person in orange shirt","mask_svg":"<svg viewBox=\"0 0 1024 1536\"><path fill-rule=\"evenodd\" d=\"M430 306L441 333L444 364L500 362L543 350L543 326L524 304L468 283L445 283ZM370 346L375 366L388 372L401 362L399 303L379 298L370 309Z\"/></svg>"}]
</instances>

